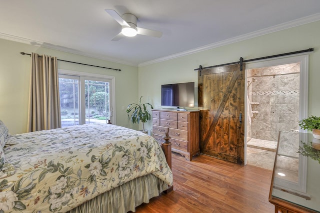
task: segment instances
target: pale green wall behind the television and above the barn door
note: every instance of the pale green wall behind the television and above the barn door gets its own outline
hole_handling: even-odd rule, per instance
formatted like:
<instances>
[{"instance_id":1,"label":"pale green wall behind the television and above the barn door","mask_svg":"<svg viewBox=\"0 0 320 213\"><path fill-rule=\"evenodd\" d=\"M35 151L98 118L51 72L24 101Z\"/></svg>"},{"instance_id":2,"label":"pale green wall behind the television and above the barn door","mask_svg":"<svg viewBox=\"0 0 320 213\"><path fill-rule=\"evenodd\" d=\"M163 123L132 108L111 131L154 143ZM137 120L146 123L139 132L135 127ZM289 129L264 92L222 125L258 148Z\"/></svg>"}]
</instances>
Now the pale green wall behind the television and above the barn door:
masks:
<instances>
[{"instance_id":1,"label":"pale green wall behind the television and above the barn door","mask_svg":"<svg viewBox=\"0 0 320 213\"><path fill-rule=\"evenodd\" d=\"M314 48L309 54L308 115L320 116L320 21L139 67L139 96L160 108L161 84L194 81L203 67ZM151 129L151 123L147 123Z\"/></svg>"}]
</instances>

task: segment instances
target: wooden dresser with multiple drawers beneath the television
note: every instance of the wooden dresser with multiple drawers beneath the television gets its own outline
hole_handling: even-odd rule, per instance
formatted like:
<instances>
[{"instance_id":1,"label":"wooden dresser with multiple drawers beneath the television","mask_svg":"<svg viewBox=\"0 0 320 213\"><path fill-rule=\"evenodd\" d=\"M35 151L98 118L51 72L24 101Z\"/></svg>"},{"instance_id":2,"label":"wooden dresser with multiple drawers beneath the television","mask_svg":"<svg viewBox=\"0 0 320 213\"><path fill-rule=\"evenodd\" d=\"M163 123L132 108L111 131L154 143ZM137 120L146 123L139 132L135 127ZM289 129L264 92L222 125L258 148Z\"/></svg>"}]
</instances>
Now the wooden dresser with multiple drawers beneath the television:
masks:
<instances>
[{"instance_id":1,"label":"wooden dresser with multiple drawers beneath the television","mask_svg":"<svg viewBox=\"0 0 320 213\"><path fill-rule=\"evenodd\" d=\"M168 132L172 152L179 153L190 161L200 153L199 148L199 111L152 110L152 134L159 142Z\"/></svg>"}]
</instances>

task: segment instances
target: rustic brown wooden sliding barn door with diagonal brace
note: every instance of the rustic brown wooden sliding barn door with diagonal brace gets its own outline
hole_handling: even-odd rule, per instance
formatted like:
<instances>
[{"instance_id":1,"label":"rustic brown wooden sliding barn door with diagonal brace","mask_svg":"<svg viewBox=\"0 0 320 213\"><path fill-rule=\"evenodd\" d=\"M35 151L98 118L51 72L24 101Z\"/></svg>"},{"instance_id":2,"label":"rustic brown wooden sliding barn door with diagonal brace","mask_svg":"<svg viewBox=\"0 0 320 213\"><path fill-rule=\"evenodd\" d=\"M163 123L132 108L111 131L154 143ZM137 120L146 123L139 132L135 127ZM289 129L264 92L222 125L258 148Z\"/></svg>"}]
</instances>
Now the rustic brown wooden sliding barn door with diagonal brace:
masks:
<instances>
[{"instance_id":1,"label":"rustic brown wooden sliding barn door with diagonal brace","mask_svg":"<svg viewBox=\"0 0 320 213\"><path fill-rule=\"evenodd\" d=\"M244 64L198 71L200 152L244 162Z\"/></svg>"}]
</instances>

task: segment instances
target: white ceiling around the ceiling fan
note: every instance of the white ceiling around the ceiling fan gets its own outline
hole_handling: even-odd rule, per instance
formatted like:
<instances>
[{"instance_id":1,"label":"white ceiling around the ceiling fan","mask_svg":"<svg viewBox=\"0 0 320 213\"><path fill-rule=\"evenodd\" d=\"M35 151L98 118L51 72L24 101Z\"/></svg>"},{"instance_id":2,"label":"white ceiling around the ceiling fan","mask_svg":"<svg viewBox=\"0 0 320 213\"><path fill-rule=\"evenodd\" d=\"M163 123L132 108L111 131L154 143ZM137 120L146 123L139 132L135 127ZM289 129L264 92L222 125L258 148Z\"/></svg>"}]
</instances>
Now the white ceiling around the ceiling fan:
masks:
<instances>
[{"instance_id":1,"label":"white ceiling around the ceiling fan","mask_svg":"<svg viewBox=\"0 0 320 213\"><path fill-rule=\"evenodd\" d=\"M105 8L163 35L111 41L121 26ZM137 66L320 20L319 12L320 0L1 0L0 38Z\"/></svg>"}]
</instances>

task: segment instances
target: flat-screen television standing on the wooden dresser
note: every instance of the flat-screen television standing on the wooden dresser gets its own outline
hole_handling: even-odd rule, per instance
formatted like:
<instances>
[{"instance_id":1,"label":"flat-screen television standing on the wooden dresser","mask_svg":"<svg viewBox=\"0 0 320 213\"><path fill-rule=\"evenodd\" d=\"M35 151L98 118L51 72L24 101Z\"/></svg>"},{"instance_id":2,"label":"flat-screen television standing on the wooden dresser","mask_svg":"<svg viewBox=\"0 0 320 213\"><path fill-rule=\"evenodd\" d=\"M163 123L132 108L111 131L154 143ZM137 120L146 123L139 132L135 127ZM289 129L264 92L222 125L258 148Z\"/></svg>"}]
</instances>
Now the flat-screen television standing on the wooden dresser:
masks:
<instances>
[{"instance_id":1,"label":"flat-screen television standing on the wooden dresser","mask_svg":"<svg viewBox=\"0 0 320 213\"><path fill-rule=\"evenodd\" d=\"M162 84L161 106L194 107L194 82Z\"/></svg>"}]
</instances>

